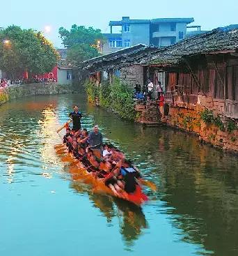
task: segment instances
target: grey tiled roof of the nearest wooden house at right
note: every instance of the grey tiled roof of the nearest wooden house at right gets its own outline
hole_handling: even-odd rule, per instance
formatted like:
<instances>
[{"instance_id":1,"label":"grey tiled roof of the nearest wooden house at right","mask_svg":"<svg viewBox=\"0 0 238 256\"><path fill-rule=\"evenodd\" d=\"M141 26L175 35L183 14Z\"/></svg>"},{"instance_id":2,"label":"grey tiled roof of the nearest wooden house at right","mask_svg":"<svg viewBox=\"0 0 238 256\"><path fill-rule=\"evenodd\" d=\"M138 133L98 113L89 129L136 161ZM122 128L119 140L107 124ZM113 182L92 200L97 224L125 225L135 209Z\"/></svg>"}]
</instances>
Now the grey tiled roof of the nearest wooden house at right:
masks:
<instances>
[{"instance_id":1,"label":"grey tiled roof of the nearest wooden house at right","mask_svg":"<svg viewBox=\"0 0 238 256\"><path fill-rule=\"evenodd\" d=\"M152 57L139 61L143 64L171 66L182 63L184 58L214 52L238 50L238 25L214 29L207 33L181 40L175 45L162 48Z\"/></svg>"}]
</instances>

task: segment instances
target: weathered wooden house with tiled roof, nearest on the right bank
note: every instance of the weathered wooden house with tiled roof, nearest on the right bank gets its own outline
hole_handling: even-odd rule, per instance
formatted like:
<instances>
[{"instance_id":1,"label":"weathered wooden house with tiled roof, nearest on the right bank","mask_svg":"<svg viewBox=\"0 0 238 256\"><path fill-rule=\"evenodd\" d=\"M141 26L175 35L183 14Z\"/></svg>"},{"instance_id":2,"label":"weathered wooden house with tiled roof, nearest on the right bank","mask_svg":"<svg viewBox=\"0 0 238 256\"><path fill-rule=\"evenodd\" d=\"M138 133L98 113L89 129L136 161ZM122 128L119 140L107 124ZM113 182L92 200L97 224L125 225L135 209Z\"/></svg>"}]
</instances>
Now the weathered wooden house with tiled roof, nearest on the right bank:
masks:
<instances>
[{"instance_id":1,"label":"weathered wooden house with tiled roof, nearest on the right bank","mask_svg":"<svg viewBox=\"0 0 238 256\"><path fill-rule=\"evenodd\" d=\"M164 73L166 101L173 106L200 104L238 119L238 26L193 36L141 61L156 82ZM159 71L158 71L159 70ZM163 81L162 81L163 84Z\"/></svg>"}]
</instances>

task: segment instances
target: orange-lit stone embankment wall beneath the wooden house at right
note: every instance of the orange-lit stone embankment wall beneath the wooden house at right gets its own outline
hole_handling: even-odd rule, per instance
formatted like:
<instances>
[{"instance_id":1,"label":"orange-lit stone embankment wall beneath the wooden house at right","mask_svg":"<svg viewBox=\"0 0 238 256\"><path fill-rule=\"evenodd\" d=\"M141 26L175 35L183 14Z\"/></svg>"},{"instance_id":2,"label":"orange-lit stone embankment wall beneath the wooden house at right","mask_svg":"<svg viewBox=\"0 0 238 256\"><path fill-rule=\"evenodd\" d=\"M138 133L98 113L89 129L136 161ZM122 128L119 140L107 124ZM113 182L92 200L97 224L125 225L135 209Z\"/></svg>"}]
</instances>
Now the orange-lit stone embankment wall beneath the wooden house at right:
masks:
<instances>
[{"instance_id":1,"label":"orange-lit stone embankment wall beneath the wooden house at right","mask_svg":"<svg viewBox=\"0 0 238 256\"><path fill-rule=\"evenodd\" d=\"M204 110L212 111L214 116L220 115L222 123L207 123L203 121L201 113ZM224 116L224 100L212 97L198 97L198 104L187 106L170 107L169 116L166 120L170 126L175 126L189 132L196 133L199 140L219 147L220 149L238 153L238 130L236 127L229 129L229 123L235 126L234 121Z\"/></svg>"}]
</instances>

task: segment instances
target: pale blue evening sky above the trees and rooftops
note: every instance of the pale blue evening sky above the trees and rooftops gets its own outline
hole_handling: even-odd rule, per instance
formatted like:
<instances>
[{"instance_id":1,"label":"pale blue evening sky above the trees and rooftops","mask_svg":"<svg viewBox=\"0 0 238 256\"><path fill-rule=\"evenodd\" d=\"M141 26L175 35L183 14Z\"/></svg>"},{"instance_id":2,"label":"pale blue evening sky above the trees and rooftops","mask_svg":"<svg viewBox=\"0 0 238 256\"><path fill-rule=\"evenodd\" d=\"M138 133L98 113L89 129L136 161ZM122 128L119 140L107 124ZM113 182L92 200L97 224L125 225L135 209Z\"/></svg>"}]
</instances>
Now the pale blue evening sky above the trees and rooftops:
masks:
<instances>
[{"instance_id":1,"label":"pale blue evening sky above the trees and rooftops","mask_svg":"<svg viewBox=\"0 0 238 256\"><path fill-rule=\"evenodd\" d=\"M237 0L1 0L0 27L12 24L22 29L50 31L45 36L56 47L61 45L58 29L70 29L72 24L101 29L109 33L109 21L131 19L154 19L161 17L193 17L193 25L211 30L229 24L238 24ZM192 25L191 24L191 25Z\"/></svg>"}]
</instances>

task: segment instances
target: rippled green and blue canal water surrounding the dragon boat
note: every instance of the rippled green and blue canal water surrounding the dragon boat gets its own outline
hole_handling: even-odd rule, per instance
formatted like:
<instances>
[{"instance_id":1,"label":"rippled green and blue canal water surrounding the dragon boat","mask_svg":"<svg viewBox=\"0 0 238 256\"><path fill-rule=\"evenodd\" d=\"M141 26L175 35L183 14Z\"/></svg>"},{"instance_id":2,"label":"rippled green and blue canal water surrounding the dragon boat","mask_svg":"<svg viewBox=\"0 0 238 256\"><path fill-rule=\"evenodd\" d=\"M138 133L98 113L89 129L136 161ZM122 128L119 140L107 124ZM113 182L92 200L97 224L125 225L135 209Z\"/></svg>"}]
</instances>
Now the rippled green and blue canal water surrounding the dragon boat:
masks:
<instances>
[{"instance_id":1,"label":"rippled green and blue canal water surrounding the dragon boat","mask_svg":"<svg viewBox=\"0 0 238 256\"><path fill-rule=\"evenodd\" d=\"M72 105L157 184L142 209L72 181L54 151ZM0 255L238 255L238 162L196 137L142 126L79 95L0 107Z\"/></svg>"}]
</instances>

